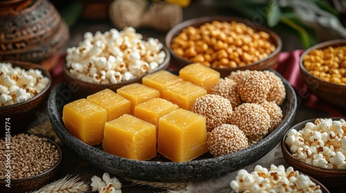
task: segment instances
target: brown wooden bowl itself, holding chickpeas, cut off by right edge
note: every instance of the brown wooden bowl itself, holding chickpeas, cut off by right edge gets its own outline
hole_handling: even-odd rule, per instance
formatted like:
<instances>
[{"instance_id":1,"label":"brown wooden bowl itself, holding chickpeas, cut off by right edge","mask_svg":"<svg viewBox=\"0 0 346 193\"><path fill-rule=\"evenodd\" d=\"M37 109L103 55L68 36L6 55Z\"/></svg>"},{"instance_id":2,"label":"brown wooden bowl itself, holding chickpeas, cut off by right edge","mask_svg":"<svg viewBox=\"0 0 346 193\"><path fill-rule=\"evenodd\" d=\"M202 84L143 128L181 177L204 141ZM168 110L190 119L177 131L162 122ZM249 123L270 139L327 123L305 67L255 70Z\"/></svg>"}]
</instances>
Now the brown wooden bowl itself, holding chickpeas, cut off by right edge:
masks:
<instances>
[{"instance_id":1,"label":"brown wooden bowl itself, holding chickpeas, cut off by right edge","mask_svg":"<svg viewBox=\"0 0 346 193\"><path fill-rule=\"evenodd\" d=\"M314 77L309 71L307 71L306 68L304 68L303 59L312 50L328 48L329 46L338 47L343 45L346 45L346 39L337 39L318 43L317 45L314 45L303 52L299 61L300 74L302 74L302 79L305 83L307 83L311 92L316 94L316 96L318 96L320 99L327 101L337 108L346 108L346 85L329 83Z\"/></svg>"}]
</instances>

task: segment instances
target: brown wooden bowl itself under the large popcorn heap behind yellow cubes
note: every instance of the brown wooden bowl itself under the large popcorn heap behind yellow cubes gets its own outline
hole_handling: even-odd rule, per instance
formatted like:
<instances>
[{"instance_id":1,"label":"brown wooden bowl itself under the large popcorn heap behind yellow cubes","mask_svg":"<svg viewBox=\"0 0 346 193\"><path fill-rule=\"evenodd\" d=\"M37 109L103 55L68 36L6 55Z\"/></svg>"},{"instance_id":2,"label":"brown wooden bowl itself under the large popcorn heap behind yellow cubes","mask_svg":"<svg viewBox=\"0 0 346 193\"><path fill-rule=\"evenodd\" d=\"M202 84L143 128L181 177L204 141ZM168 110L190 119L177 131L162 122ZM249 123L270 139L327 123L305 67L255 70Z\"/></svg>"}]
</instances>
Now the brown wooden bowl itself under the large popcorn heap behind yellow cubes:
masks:
<instances>
[{"instance_id":1,"label":"brown wooden bowl itself under the large popcorn heap behind yellow cubes","mask_svg":"<svg viewBox=\"0 0 346 193\"><path fill-rule=\"evenodd\" d=\"M165 60L163 63L158 65L158 68L148 72L147 74L151 74L153 72L156 72L158 70L165 70L170 65L170 52L168 52L167 48L163 48L163 51L166 54ZM98 92L100 90L104 90L106 88L109 88L110 90L113 90L116 92L116 90L124 85L129 85L131 83L142 83L142 77L144 77L147 74L143 74L141 77L137 77L135 79L131 79L129 81L122 81L121 83L106 83L106 84L100 84L100 83L89 83L86 81L82 81L80 79L77 79L69 72L69 69L67 68L66 63L63 65L63 75L64 79L67 81L70 87L73 87L73 89L70 88L70 90L73 90L72 94L74 97L83 98L85 96L88 96L89 94L93 94L95 92Z\"/></svg>"}]
</instances>

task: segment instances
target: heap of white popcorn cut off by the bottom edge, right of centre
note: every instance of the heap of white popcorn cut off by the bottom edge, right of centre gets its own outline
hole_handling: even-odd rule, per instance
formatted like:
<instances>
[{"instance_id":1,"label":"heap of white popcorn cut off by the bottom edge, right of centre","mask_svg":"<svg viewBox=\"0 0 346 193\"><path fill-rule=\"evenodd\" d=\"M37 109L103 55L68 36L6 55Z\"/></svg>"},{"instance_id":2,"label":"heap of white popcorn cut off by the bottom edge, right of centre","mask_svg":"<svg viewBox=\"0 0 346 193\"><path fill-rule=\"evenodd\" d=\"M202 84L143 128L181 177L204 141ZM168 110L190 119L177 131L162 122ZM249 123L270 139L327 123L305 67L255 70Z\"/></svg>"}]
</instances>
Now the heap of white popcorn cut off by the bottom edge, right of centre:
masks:
<instances>
[{"instance_id":1,"label":"heap of white popcorn cut off by the bottom edge, right of centre","mask_svg":"<svg viewBox=\"0 0 346 193\"><path fill-rule=\"evenodd\" d=\"M271 165L268 170L256 165L253 172L239 170L236 179L230 182L235 192L314 192L321 193L320 185L316 185L309 176L294 171L293 167Z\"/></svg>"}]
</instances>

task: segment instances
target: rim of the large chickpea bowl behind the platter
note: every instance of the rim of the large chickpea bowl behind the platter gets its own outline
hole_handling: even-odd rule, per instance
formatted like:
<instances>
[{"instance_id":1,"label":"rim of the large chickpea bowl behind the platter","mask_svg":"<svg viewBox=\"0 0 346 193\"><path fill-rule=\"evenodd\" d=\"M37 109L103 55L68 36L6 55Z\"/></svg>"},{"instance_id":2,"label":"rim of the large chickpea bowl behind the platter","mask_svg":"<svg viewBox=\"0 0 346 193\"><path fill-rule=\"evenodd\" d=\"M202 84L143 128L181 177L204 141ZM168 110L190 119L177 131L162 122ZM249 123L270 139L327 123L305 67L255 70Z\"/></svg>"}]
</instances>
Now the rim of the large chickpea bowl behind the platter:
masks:
<instances>
[{"instance_id":1,"label":"rim of the large chickpea bowl behind the platter","mask_svg":"<svg viewBox=\"0 0 346 193\"><path fill-rule=\"evenodd\" d=\"M280 38L279 35L277 35L275 32L273 32L273 30L270 30L269 28L266 28L264 26L260 26L257 25L253 22L251 22L250 20L246 20L243 19L241 17L228 17L228 16L220 16L220 15L213 15L213 16L207 16L207 17L199 17L199 18L194 18L194 19L189 19L186 21L183 21L181 23L176 24L176 26L174 26L173 28L170 29L169 32L167 32L166 36L165 36L165 44L168 48L168 50L170 51L171 55L173 57L175 57L176 59L179 59L179 61L184 61L186 63L193 63L192 61L189 61L188 59L185 59L183 57L180 57L178 54L176 54L171 46L170 43L172 42L173 38L176 36L176 34L179 34L179 32L181 32L181 30L183 30L183 28L186 28L188 26L192 26L195 23L201 23L201 25L203 25L203 23L206 22L210 22L210 21L237 21L240 23L244 23L246 26L249 26L251 28L253 28L254 30L261 30L264 32L268 32L271 36L271 38L275 41L275 44L277 44L275 50L273 52L271 52L271 54L268 54L267 57L265 57L264 59L260 59L259 61L255 61L253 63L244 65L244 66L239 66L236 68L218 68L218 67L213 67L213 69L215 70L224 70L224 69L238 69L238 70L242 70L245 68L251 68L254 65L257 65L259 63L262 63L268 59L273 58L276 54L279 54L282 50L282 39Z\"/></svg>"}]
</instances>

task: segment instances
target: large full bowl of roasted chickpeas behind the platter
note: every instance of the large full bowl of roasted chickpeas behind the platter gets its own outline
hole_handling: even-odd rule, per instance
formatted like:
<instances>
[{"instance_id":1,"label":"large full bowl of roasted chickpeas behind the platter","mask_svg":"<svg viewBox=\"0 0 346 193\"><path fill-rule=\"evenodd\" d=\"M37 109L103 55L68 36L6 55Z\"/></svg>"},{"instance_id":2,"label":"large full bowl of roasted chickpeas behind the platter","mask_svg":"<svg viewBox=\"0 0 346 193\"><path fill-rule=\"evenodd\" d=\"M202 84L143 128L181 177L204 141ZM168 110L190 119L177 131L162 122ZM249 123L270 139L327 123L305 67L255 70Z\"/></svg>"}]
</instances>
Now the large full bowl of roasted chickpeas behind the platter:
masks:
<instances>
[{"instance_id":1,"label":"large full bowl of roasted chickpeas behind the platter","mask_svg":"<svg viewBox=\"0 0 346 193\"><path fill-rule=\"evenodd\" d=\"M174 26L165 37L172 63L203 63L227 77L237 70L264 70L278 64L282 41L275 32L237 17L209 16Z\"/></svg>"}]
</instances>

